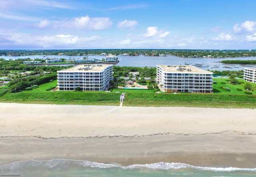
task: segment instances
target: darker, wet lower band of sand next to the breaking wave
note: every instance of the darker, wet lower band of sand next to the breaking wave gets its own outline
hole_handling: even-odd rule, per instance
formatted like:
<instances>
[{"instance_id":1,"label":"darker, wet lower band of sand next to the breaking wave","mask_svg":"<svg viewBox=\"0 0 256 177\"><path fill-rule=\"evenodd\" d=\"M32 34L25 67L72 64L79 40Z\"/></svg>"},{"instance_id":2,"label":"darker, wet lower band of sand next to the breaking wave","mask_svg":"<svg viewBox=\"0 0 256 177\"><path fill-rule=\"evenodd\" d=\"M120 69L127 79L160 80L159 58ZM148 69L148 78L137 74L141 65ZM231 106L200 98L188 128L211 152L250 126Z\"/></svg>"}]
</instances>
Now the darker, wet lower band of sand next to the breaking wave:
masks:
<instances>
[{"instance_id":1,"label":"darker, wet lower band of sand next to the breaking wave","mask_svg":"<svg viewBox=\"0 0 256 177\"><path fill-rule=\"evenodd\" d=\"M122 166L158 162L198 167L255 168L255 135L158 135L154 137L0 138L0 166L17 161L72 159Z\"/></svg>"}]
</instances>

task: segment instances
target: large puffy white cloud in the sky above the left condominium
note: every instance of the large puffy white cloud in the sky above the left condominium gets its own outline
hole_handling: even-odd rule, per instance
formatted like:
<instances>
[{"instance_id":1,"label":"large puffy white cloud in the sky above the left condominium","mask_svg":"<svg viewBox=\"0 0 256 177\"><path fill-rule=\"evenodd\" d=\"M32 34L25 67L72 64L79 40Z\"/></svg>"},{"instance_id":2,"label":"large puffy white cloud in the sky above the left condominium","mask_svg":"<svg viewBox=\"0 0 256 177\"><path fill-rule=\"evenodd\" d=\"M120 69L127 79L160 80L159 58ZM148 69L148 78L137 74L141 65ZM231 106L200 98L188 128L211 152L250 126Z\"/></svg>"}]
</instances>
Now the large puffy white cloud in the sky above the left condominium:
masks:
<instances>
[{"instance_id":1,"label":"large puffy white cloud in the sky above the left condominium","mask_svg":"<svg viewBox=\"0 0 256 177\"><path fill-rule=\"evenodd\" d=\"M82 16L80 18L75 18L73 21L65 22L64 26L76 26L78 29L90 29L90 30L104 30L109 28L113 23L107 17L102 18L90 18L87 16Z\"/></svg>"}]
</instances>

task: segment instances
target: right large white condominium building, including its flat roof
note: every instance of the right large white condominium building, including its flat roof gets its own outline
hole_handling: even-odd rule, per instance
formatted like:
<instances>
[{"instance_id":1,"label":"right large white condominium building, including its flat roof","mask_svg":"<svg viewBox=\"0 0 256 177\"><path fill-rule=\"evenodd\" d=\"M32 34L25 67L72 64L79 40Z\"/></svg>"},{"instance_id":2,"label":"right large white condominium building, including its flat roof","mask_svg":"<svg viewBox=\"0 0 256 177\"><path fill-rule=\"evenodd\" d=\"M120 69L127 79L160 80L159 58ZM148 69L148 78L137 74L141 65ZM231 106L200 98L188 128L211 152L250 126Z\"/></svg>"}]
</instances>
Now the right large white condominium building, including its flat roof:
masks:
<instances>
[{"instance_id":1,"label":"right large white condominium building, including its flat roof","mask_svg":"<svg viewBox=\"0 0 256 177\"><path fill-rule=\"evenodd\" d=\"M190 65L157 65L159 88L166 92L212 93L212 72Z\"/></svg>"}]
</instances>

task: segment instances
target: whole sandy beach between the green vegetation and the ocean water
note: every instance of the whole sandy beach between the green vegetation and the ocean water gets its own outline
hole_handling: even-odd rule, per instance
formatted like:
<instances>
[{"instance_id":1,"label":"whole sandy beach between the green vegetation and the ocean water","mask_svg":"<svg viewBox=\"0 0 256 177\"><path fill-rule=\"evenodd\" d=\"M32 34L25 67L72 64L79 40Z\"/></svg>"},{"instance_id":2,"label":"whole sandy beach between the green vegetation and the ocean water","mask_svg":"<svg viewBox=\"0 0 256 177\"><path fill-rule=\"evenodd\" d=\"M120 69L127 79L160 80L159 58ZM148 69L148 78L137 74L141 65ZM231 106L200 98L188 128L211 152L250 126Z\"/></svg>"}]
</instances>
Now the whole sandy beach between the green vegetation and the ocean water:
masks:
<instances>
[{"instance_id":1,"label":"whole sandy beach between the green vegetation and the ocean water","mask_svg":"<svg viewBox=\"0 0 256 177\"><path fill-rule=\"evenodd\" d=\"M0 165L80 159L256 166L256 109L0 103Z\"/></svg>"}]
</instances>

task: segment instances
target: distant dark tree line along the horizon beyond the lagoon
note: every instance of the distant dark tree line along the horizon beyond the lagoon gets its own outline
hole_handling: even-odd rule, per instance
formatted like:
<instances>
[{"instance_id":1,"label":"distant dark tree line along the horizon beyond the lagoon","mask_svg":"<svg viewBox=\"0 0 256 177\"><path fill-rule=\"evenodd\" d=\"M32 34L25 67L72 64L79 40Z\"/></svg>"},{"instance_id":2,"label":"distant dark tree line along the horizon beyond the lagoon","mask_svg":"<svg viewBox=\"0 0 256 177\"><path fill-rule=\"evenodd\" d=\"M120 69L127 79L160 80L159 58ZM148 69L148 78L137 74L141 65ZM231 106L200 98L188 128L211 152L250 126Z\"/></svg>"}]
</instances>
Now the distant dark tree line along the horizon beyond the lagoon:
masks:
<instances>
[{"instance_id":1,"label":"distant dark tree line along the horizon beyond the lagoon","mask_svg":"<svg viewBox=\"0 0 256 177\"><path fill-rule=\"evenodd\" d=\"M159 56L166 54L186 58L237 58L256 56L256 50L178 50L178 49L80 49L80 50L0 50L4 56L31 56L31 55L66 55L88 56L101 54L127 54L129 56L149 55Z\"/></svg>"}]
</instances>

